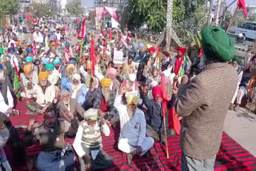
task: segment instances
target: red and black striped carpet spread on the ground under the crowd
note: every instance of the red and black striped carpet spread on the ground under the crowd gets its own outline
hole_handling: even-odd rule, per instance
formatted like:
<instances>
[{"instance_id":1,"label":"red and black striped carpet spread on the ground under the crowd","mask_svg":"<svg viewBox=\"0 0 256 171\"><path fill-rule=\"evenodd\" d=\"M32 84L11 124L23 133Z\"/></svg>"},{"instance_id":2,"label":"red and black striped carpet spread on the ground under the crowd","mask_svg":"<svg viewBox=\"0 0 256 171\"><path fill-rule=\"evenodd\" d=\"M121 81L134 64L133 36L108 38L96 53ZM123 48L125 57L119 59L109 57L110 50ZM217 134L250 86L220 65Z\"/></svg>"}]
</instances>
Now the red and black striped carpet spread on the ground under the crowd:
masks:
<instances>
[{"instance_id":1,"label":"red and black striped carpet spread on the ground under the crowd","mask_svg":"<svg viewBox=\"0 0 256 171\"><path fill-rule=\"evenodd\" d=\"M30 118L42 123L42 115L26 115L25 101L18 102L17 109L19 116L10 116L13 125L28 125ZM21 134L22 134L22 130ZM150 157L134 157L130 165L127 164L126 154L121 153L117 147L119 136L118 129L111 129L110 137L103 136L103 149L114 159L115 166L108 170L181 170L181 149L178 146L178 136L171 137L169 140L170 158L166 158L165 146L155 143L150 149ZM72 144L72 139L66 139ZM39 145L34 145L26 149L28 156L40 152ZM215 161L214 170L256 170L256 157L252 156L241 145L231 139L226 133L222 135L222 145Z\"/></svg>"}]
</instances>

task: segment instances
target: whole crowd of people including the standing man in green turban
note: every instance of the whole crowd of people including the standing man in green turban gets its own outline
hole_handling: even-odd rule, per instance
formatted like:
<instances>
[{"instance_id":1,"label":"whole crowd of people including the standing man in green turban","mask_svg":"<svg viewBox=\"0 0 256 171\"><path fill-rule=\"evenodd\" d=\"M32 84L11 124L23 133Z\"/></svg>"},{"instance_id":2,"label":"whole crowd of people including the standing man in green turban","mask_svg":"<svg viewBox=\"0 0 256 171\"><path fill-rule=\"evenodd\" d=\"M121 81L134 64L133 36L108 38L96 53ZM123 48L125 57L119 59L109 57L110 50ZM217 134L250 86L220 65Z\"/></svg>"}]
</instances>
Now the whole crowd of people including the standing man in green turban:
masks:
<instances>
[{"instance_id":1,"label":"whole crowd of people including the standing man in green turban","mask_svg":"<svg viewBox=\"0 0 256 171\"><path fill-rule=\"evenodd\" d=\"M18 99L26 100L26 114L44 116L40 124L31 119L24 135L24 146L40 142L37 170L74 169L75 156L81 170L110 168L114 161L102 149L102 133L113 129L120 129L118 149L129 164L134 156L148 157L154 141L166 144L177 133L182 170L213 170L227 110L238 109L255 80L254 47L238 66L234 44L219 27L203 30L202 58L194 43L174 55L138 42L133 32L109 28L86 31L80 44L73 27L40 18L33 27L15 23L1 34L1 150L15 134L6 123L19 114ZM122 64L115 51L122 51ZM180 132L170 124L173 117L181 121ZM11 170L14 162L2 167Z\"/></svg>"}]
</instances>

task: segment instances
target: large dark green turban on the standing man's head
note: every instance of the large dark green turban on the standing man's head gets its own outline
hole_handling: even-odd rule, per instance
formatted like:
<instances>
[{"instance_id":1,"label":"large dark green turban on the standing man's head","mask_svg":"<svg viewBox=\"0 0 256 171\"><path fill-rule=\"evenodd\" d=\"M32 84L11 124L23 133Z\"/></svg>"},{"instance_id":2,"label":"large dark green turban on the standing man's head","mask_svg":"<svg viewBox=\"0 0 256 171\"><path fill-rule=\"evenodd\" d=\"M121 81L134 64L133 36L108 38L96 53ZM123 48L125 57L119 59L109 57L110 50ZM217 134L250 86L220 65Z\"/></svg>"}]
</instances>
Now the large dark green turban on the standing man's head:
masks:
<instances>
[{"instance_id":1,"label":"large dark green turban on the standing man's head","mask_svg":"<svg viewBox=\"0 0 256 171\"><path fill-rule=\"evenodd\" d=\"M222 62L234 58L234 42L221 27L206 27L202 31L202 49L208 58L218 58Z\"/></svg>"}]
</instances>

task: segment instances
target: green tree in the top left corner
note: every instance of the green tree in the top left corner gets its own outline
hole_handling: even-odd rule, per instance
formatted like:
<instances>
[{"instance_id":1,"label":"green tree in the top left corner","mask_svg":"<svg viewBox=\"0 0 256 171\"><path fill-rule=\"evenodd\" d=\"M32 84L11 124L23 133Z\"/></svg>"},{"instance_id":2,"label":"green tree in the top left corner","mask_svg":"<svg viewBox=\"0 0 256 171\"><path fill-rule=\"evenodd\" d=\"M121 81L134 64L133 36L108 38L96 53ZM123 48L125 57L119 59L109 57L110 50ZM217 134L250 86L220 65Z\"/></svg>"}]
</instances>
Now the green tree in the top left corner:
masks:
<instances>
[{"instance_id":1,"label":"green tree in the top left corner","mask_svg":"<svg viewBox=\"0 0 256 171\"><path fill-rule=\"evenodd\" d=\"M6 15L12 16L18 13L18 0L0 0L0 25L5 26Z\"/></svg>"}]
</instances>

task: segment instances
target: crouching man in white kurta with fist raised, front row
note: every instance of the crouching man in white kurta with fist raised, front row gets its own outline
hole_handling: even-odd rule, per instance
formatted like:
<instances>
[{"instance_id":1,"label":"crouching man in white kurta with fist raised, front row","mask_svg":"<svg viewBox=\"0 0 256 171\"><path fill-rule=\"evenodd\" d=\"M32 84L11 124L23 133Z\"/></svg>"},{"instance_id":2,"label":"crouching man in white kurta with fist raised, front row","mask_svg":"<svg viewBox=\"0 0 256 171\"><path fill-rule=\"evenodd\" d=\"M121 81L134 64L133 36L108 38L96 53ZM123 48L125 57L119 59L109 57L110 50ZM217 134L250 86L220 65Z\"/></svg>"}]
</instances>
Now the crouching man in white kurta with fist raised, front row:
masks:
<instances>
[{"instance_id":1,"label":"crouching man in white kurta with fist raised, front row","mask_svg":"<svg viewBox=\"0 0 256 171\"><path fill-rule=\"evenodd\" d=\"M152 137L146 137L146 119L142 110L137 108L138 96L127 96L127 105L121 103L126 87L122 87L114 101L120 117L120 137L118 149L127 154L130 164L134 155L143 156L154 145Z\"/></svg>"}]
</instances>

